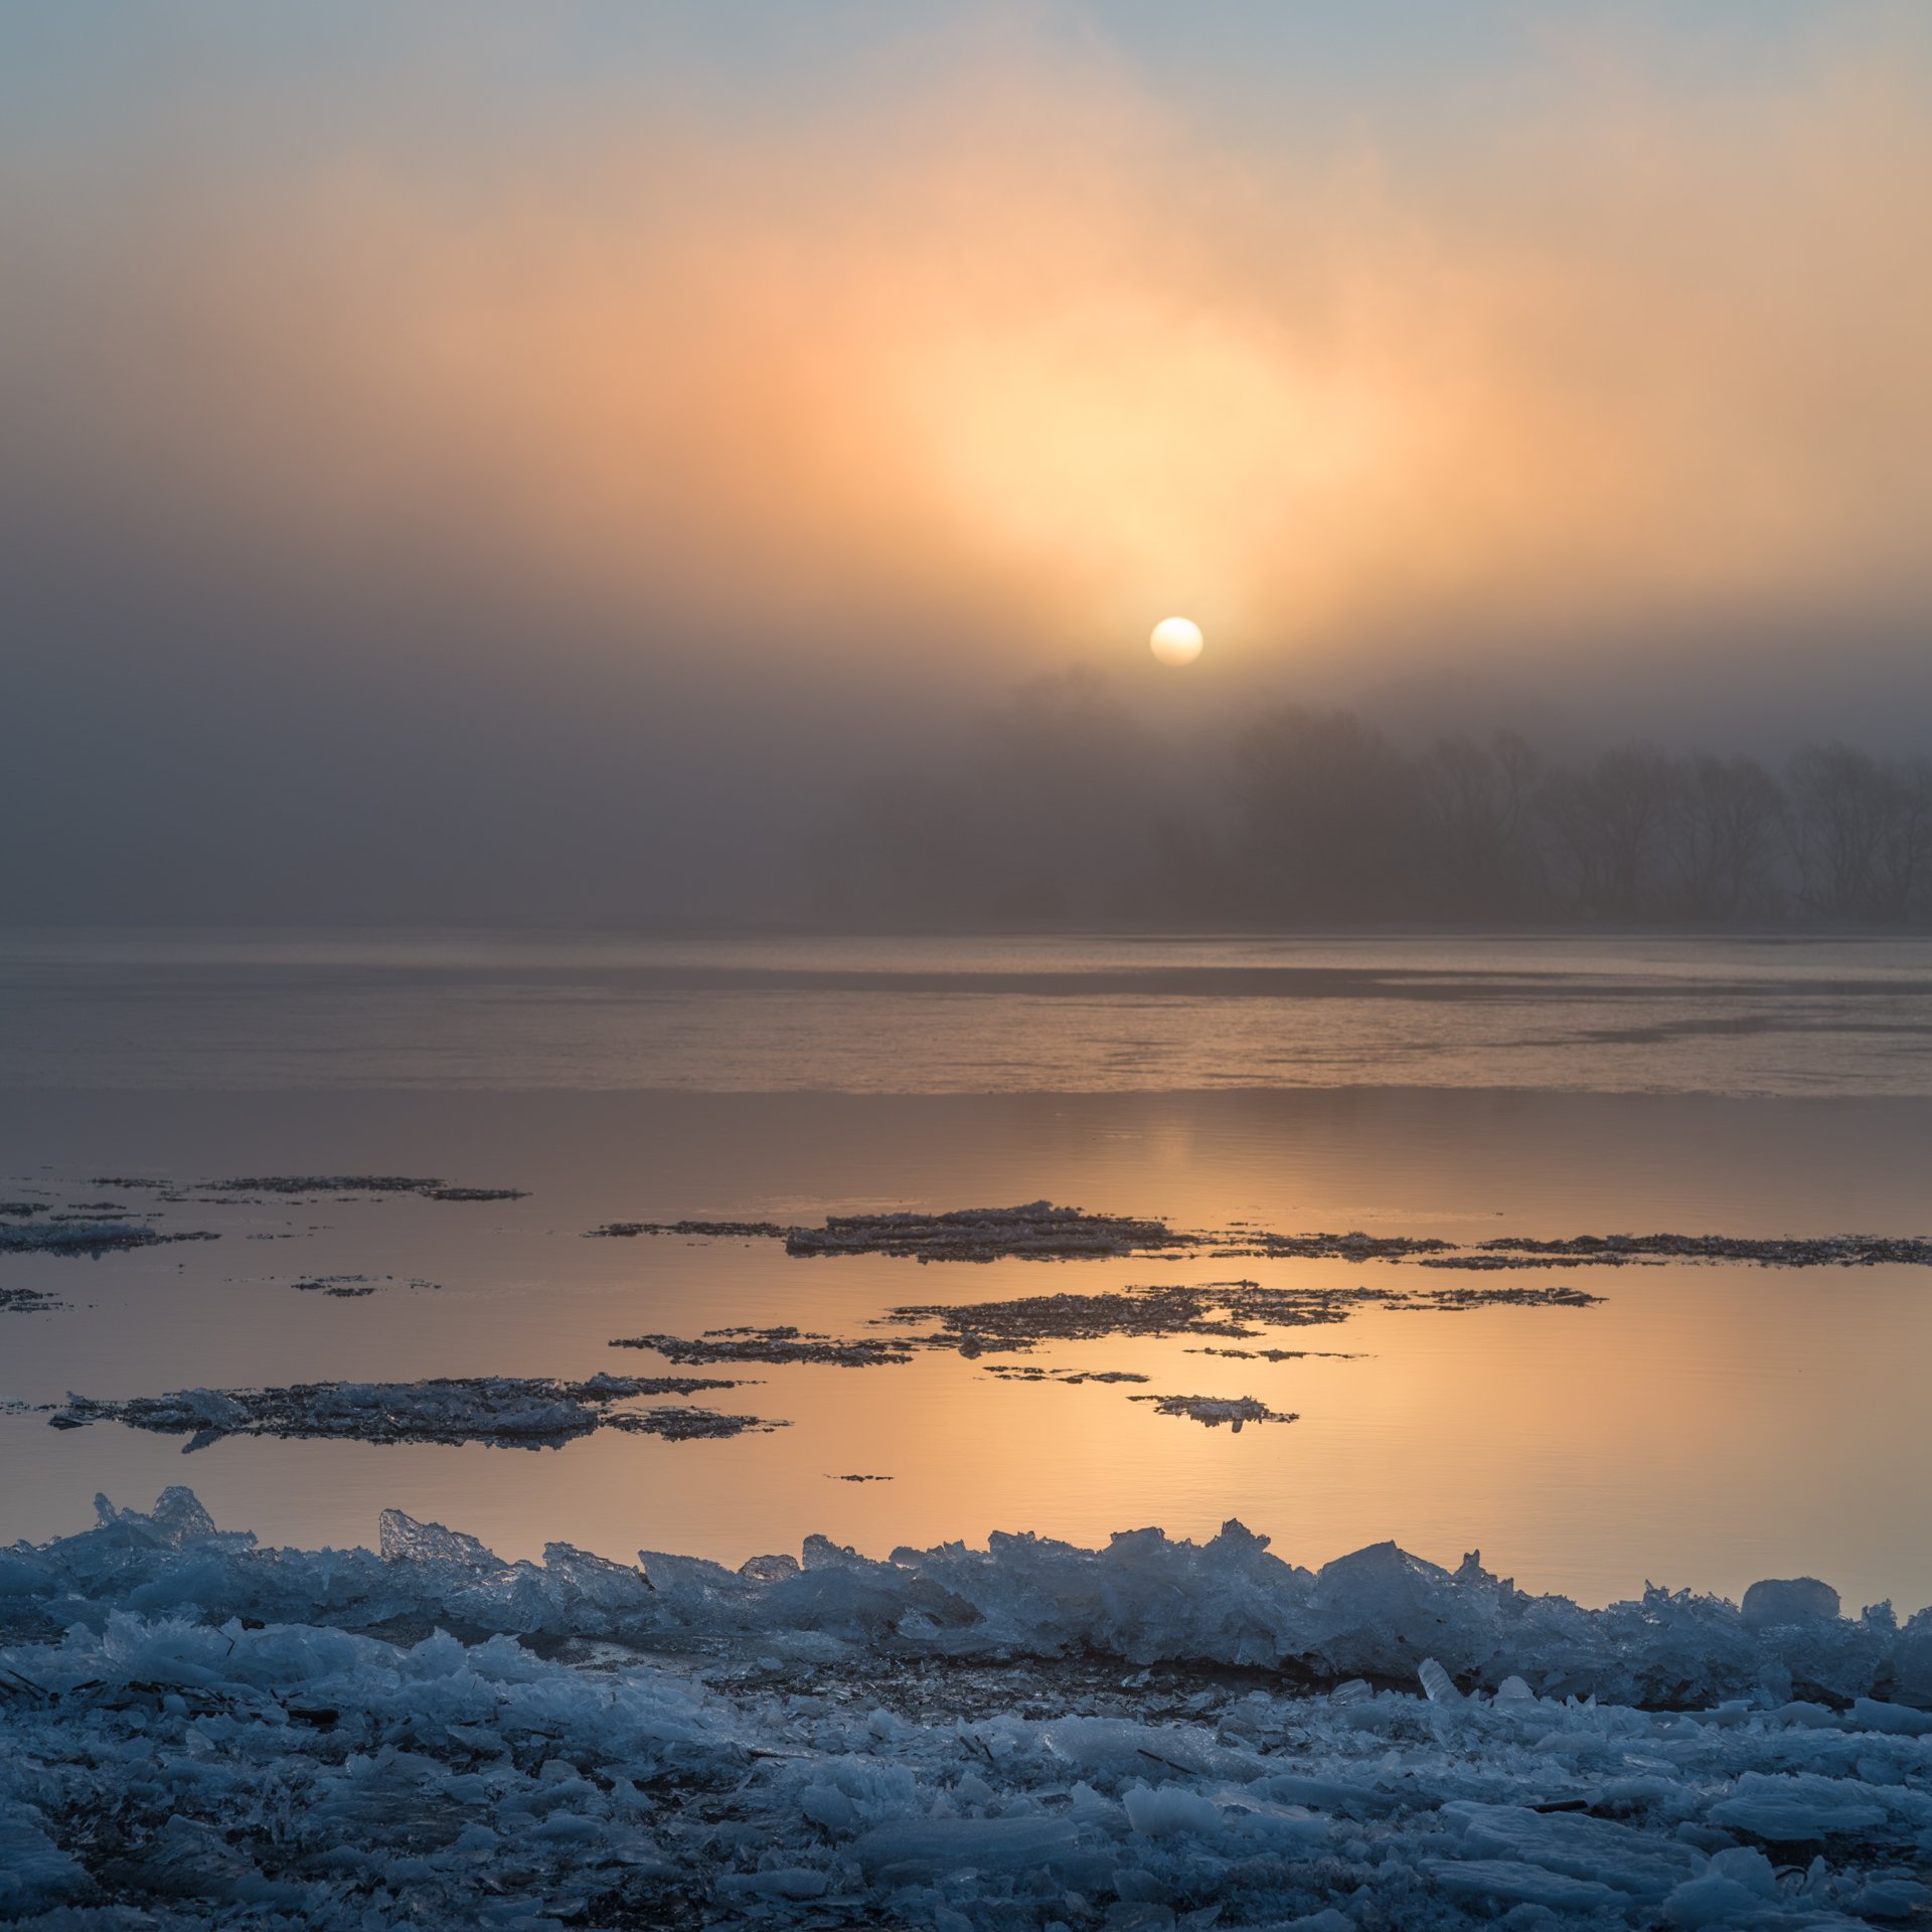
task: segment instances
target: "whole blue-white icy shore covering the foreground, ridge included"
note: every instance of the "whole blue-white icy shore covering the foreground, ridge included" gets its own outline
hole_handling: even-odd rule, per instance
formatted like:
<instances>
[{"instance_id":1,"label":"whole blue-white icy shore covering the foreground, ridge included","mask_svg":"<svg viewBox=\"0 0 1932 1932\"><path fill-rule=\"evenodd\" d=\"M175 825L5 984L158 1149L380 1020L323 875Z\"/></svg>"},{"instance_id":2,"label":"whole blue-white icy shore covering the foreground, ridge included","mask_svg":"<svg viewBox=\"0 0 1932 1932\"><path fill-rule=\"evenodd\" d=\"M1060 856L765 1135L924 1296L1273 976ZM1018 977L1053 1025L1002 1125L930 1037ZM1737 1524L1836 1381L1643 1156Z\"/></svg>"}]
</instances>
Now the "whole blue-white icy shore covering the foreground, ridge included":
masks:
<instances>
[{"instance_id":1,"label":"whole blue-white icy shore covering the foreground, ridge included","mask_svg":"<svg viewBox=\"0 0 1932 1932\"><path fill-rule=\"evenodd\" d=\"M381 1553L267 1551L170 1490L0 1555L0 1917L1913 1918L1922 1619L1830 1602L1801 1580L1754 1615L1662 1592L1592 1613L1389 1546L1310 1575L1238 1524L893 1563L811 1540L726 1571L564 1546L504 1565L392 1511ZM585 1642L612 1636L659 1654ZM1175 1642L1254 1667L1159 1662Z\"/></svg>"}]
</instances>

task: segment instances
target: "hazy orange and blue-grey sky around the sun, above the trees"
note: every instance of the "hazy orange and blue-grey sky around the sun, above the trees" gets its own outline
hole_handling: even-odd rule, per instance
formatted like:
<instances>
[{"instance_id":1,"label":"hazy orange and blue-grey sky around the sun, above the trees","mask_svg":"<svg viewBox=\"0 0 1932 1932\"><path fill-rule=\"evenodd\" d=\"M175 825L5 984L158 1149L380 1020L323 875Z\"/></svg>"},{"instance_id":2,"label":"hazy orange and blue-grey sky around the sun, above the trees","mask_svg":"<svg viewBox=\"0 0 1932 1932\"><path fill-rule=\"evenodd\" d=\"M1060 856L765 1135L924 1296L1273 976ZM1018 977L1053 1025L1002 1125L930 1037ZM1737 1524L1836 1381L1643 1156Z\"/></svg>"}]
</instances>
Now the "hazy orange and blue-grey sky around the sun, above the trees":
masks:
<instances>
[{"instance_id":1,"label":"hazy orange and blue-grey sky around the sun, above the trees","mask_svg":"<svg viewBox=\"0 0 1932 1932\"><path fill-rule=\"evenodd\" d=\"M1072 665L1917 732L1928 110L1909 0L0 0L17 916L750 902Z\"/></svg>"}]
</instances>

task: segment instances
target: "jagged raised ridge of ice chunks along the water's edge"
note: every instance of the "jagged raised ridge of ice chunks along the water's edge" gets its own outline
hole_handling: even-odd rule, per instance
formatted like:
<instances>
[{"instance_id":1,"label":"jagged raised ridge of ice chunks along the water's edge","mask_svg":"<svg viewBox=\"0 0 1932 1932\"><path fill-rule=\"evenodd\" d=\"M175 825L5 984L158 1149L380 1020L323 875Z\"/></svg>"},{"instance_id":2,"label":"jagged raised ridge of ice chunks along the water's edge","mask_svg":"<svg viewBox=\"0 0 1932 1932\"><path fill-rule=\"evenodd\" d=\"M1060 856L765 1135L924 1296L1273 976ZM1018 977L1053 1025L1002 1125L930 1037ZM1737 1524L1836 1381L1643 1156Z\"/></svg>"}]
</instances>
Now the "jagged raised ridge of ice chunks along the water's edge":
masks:
<instances>
[{"instance_id":1,"label":"jagged raised ridge of ice chunks along the water's edge","mask_svg":"<svg viewBox=\"0 0 1932 1932\"><path fill-rule=\"evenodd\" d=\"M1476 1557L1455 1571L1376 1544L1308 1571L1229 1522L1204 1544L1126 1530L1103 1549L995 1534L869 1559L823 1536L740 1569L641 1551L611 1563L566 1544L504 1563L473 1538L383 1517L381 1551L263 1549L216 1532L193 1493L153 1515L100 1505L100 1526L0 1551L0 1633L50 1634L108 1609L597 1638L647 1650L837 1658L1186 1660L1410 1685L1435 1658L1463 1690L1524 1679L1538 1696L1687 1706L1793 1696L1932 1708L1932 1611L1826 1615L1814 1580L1760 1584L1745 1609L1646 1588L1607 1609L1530 1596ZM1924 1719L1932 1731L1932 1718Z\"/></svg>"}]
</instances>

